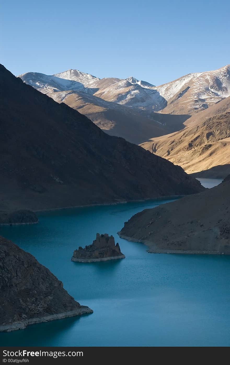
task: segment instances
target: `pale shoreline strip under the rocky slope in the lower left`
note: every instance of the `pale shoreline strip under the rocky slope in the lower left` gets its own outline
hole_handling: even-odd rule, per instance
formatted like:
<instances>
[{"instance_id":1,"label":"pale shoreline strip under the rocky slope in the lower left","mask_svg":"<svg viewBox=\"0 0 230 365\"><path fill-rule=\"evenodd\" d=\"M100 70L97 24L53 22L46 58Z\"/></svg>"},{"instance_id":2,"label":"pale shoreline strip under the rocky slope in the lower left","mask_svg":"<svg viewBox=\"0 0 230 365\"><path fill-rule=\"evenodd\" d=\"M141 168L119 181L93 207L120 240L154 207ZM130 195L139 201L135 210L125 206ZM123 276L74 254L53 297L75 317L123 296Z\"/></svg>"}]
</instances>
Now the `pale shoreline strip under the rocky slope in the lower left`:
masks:
<instances>
[{"instance_id":1,"label":"pale shoreline strip under the rocky slope in the lower left","mask_svg":"<svg viewBox=\"0 0 230 365\"><path fill-rule=\"evenodd\" d=\"M79 316L82 314L90 314L93 313L93 310L87 306L81 306L80 308L77 308L73 311L67 311L63 313L57 313L57 314L50 314L43 317L34 317L30 318L28 320L15 322L15 323L9 323L4 324L0 326L0 332L11 332L16 330L23 330L26 328L29 324L35 324L35 323L43 323L43 322L50 322L51 320L55 319L63 319L67 317L74 317Z\"/></svg>"}]
</instances>

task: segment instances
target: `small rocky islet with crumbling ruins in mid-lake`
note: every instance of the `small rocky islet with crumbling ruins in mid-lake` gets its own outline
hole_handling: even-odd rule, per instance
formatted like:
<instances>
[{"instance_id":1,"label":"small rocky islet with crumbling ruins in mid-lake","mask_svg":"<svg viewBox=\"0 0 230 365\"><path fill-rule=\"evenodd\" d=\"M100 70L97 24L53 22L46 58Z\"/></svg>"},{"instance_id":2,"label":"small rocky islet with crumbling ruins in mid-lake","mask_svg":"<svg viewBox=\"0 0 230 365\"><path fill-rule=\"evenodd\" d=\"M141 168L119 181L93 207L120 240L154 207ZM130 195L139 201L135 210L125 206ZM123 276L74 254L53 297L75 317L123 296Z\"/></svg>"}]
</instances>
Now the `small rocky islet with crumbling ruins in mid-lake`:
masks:
<instances>
[{"instance_id":1,"label":"small rocky islet with crumbling ruins in mid-lake","mask_svg":"<svg viewBox=\"0 0 230 365\"><path fill-rule=\"evenodd\" d=\"M119 244L115 245L114 237L107 233L101 235L97 233L92 245L86 246L84 249L79 247L78 250L74 251L71 261L98 262L119 258L125 258L125 255L120 252Z\"/></svg>"}]
</instances>

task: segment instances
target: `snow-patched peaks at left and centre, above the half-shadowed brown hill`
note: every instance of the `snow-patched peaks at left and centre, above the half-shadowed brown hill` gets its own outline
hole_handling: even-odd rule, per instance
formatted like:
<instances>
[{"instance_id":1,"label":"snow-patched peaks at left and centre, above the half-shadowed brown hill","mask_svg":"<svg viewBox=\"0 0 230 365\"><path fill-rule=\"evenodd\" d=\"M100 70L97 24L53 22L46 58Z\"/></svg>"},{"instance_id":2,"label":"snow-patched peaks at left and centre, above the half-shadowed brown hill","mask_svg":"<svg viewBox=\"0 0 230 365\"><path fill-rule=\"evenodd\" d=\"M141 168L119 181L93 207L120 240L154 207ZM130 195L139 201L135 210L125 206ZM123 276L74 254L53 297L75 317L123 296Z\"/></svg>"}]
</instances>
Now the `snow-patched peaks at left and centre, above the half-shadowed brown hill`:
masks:
<instances>
[{"instance_id":1,"label":"snow-patched peaks at left and centre, above the half-shadowed brown hill","mask_svg":"<svg viewBox=\"0 0 230 365\"><path fill-rule=\"evenodd\" d=\"M167 101L156 90L154 85L134 77L96 78L78 70L67 70L55 75L28 72L19 77L28 85L43 93L59 91L83 91L100 97L107 102L124 105L146 117L151 112L166 107ZM108 104L107 104L108 105Z\"/></svg>"}]
</instances>

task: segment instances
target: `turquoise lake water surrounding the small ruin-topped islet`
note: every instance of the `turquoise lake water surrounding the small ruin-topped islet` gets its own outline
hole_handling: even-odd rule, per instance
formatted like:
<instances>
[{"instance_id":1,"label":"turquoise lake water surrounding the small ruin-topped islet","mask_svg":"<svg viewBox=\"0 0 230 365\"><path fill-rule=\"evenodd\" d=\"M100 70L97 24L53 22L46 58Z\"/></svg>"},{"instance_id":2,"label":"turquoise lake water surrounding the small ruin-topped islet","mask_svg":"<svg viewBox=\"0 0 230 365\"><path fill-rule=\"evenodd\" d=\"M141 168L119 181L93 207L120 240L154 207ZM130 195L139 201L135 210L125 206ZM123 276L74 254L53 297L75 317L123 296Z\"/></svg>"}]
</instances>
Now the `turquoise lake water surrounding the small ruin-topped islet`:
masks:
<instances>
[{"instance_id":1,"label":"turquoise lake water surrounding the small ruin-topped islet","mask_svg":"<svg viewBox=\"0 0 230 365\"><path fill-rule=\"evenodd\" d=\"M94 310L0 333L1 346L229 346L230 256L149 254L116 234L136 212L167 201L46 212L39 224L0 227ZM126 258L71 262L97 232L114 235Z\"/></svg>"}]
</instances>

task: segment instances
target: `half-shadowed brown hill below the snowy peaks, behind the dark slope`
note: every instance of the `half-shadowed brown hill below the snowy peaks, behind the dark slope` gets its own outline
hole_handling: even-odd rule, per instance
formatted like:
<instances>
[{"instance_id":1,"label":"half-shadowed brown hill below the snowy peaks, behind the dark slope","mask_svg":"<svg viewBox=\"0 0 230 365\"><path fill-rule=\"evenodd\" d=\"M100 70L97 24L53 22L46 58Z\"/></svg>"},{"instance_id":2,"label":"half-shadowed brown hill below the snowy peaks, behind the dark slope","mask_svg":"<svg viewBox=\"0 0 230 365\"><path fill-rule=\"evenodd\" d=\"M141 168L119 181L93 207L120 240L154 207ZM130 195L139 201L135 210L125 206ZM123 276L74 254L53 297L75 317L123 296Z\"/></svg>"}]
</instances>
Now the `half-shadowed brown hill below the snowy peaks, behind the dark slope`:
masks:
<instances>
[{"instance_id":1,"label":"half-shadowed brown hill below the snowy peaks, behind the dark slope","mask_svg":"<svg viewBox=\"0 0 230 365\"><path fill-rule=\"evenodd\" d=\"M105 101L86 92L60 91L47 95L57 103L65 103L86 115L107 134L123 137L131 143L145 142L150 133L160 136L174 128L174 125L164 126L163 123L147 118L130 108ZM175 128L178 130L177 126Z\"/></svg>"}]
</instances>

